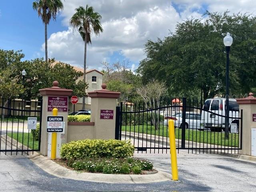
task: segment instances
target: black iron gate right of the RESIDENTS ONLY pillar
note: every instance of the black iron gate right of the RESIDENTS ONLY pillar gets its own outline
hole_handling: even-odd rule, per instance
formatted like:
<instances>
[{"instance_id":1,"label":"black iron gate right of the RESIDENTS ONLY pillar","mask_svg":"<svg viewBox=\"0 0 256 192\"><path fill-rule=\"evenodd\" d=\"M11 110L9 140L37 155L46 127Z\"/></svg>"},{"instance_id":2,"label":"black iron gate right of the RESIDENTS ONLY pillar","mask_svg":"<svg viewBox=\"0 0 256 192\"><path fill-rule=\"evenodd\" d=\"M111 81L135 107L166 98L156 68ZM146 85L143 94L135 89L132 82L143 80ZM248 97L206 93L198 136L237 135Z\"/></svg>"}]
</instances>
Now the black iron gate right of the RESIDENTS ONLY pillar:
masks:
<instances>
[{"instance_id":1,"label":"black iron gate right of the RESIDENTS ONLY pillar","mask_svg":"<svg viewBox=\"0 0 256 192\"><path fill-rule=\"evenodd\" d=\"M131 140L139 152L169 153L168 120L174 120L176 147L192 153L238 153L242 148L242 110L230 100L202 102L186 98L162 99L147 103L121 103L117 107L116 139ZM154 105L155 104L155 105ZM225 118L228 133L225 136Z\"/></svg>"}]
</instances>

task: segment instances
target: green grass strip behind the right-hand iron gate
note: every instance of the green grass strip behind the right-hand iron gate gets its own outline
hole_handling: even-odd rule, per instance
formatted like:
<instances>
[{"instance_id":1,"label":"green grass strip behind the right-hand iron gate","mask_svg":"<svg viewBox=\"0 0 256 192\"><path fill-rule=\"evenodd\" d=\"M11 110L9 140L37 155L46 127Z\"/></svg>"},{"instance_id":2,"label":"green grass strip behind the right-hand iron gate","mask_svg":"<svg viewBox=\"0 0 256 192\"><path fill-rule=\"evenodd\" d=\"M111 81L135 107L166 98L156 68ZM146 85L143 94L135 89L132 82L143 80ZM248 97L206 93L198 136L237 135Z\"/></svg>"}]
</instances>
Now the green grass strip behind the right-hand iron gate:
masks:
<instances>
[{"instance_id":1,"label":"green grass strip behind the right-hand iron gate","mask_svg":"<svg viewBox=\"0 0 256 192\"><path fill-rule=\"evenodd\" d=\"M134 126L122 126L122 131L126 130L127 136L129 136L129 132L140 132L140 133L147 133L151 135L159 135L159 136L169 136L169 132L167 130L167 126L160 125L158 130L154 129L154 126L150 125L136 125L135 131ZM181 129L175 128L175 138L181 139ZM185 132L185 140L200 142L200 143L208 143L208 144L216 144L222 146L232 146L238 147L238 134L230 133L229 139L225 139L225 133L221 132L211 132L211 131L198 131L198 130L188 130L186 129Z\"/></svg>"}]
</instances>

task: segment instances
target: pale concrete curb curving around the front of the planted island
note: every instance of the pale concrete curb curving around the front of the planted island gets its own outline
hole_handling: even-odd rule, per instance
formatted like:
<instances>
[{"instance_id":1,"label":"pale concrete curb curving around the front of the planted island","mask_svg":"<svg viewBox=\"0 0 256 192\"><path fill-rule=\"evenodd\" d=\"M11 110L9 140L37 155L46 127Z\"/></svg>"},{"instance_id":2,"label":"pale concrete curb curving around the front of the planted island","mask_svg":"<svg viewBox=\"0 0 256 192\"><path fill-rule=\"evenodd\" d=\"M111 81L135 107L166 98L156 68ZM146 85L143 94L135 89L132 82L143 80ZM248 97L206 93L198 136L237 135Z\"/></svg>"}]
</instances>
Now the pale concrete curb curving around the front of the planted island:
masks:
<instances>
[{"instance_id":1,"label":"pale concrete curb curving around the front of the planted island","mask_svg":"<svg viewBox=\"0 0 256 192\"><path fill-rule=\"evenodd\" d=\"M11 144L12 139L7 136L7 144ZM18 148L22 146L18 142ZM25 154L24 154L25 156ZM60 178L68 178L74 180L90 181L90 182L103 182L103 183L152 183L152 182L163 182L171 181L172 175L160 170L157 170L155 174L143 174L143 175L132 175L132 174L100 174L100 173L88 173L78 172L67 169L56 162L50 160L48 157L40 155L38 152L28 152L26 155L34 164L40 167L45 172L52 174Z\"/></svg>"}]
</instances>

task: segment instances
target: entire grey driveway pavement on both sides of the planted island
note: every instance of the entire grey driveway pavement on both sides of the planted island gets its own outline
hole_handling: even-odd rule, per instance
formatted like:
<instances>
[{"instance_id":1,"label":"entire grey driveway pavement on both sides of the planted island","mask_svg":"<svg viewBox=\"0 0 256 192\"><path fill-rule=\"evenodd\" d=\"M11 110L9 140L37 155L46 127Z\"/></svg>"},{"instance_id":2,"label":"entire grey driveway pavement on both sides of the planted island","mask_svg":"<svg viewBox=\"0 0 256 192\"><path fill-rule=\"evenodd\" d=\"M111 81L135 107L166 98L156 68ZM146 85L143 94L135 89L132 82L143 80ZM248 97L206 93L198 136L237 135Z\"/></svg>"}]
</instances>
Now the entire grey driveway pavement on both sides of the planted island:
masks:
<instances>
[{"instance_id":1,"label":"entire grey driveway pavement on both sides of the planted island","mask_svg":"<svg viewBox=\"0 0 256 192\"><path fill-rule=\"evenodd\" d=\"M169 154L135 153L171 173ZM0 191L255 191L256 164L216 154L178 154L179 181L106 184L52 176L28 158L0 155ZM106 175L107 176L107 175Z\"/></svg>"}]
</instances>

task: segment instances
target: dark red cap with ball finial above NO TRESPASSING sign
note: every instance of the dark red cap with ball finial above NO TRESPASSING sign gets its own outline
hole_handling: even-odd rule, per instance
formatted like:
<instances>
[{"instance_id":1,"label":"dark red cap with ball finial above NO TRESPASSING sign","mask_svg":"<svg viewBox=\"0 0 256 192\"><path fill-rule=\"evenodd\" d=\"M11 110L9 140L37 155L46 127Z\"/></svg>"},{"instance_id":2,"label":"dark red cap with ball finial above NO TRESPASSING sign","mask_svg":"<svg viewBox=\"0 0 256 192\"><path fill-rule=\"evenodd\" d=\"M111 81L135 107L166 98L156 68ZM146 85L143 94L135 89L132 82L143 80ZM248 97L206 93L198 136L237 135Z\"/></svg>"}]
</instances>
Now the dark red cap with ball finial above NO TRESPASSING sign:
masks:
<instances>
[{"instance_id":1,"label":"dark red cap with ball finial above NO TRESPASSING sign","mask_svg":"<svg viewBox=\"0 0 256 192\"><path fill-rule=\"evenodd\" d=\"M51 96L70 96L73 92L73 90L71 89L65 89L65 88L60 88L59 86L59 82L58 81L54 81L52 83L52 87L50 88L44 88L44 89L40 89L40 95L44 96L44 95L51 95Z\"/></svg>"}]
</instances>

